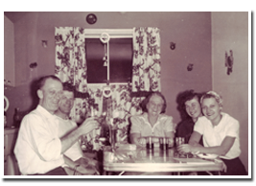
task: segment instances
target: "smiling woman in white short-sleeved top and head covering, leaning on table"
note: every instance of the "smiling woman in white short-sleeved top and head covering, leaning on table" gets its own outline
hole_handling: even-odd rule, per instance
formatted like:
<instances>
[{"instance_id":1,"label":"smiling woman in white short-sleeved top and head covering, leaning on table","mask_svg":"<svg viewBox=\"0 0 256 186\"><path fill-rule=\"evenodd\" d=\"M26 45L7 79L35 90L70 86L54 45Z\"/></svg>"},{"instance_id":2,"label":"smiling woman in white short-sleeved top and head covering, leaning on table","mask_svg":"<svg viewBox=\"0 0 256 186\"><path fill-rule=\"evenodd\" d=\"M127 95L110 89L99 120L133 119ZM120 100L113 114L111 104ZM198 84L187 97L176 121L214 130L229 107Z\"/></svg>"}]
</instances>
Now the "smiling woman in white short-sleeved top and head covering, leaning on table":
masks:
<instances>
[{"instance_id":1,"label":"smiling woman in white short-sleeved top and head covering, leaning on table","mask_svg":"<svg viewBox=\"0 0 256 186\"><path fill-rule=\"evenodd\" d=\"M222 99L214 91L209 91L200 100L204 116L198 118L189 144L182 145L178 151L215 153L225 163L226 173L222 175L246 175L239 155L239 122L222 110ZM203 137L203 145L198 144Z\"/></svg>"}]
</instances>

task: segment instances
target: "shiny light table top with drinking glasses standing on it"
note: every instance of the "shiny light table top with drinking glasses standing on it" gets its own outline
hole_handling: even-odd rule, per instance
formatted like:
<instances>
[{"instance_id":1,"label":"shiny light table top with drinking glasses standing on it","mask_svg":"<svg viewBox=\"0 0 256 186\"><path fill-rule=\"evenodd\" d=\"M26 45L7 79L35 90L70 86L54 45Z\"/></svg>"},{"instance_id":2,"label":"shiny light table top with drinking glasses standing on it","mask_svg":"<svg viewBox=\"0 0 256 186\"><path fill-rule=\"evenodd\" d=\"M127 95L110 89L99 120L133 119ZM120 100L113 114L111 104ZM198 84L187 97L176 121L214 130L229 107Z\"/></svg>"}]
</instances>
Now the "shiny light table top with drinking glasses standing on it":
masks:
<instances>
[{"instance_id":1,"label":"shiny light table top with drinking glasses standing on it","mask_svg":"<svg viewBox=\"0 0 256 186\"><path fill-rule=\"evenodd\" d=\"M162 151L154 148L136 150L104 150L104 169L110 172L209 172L221 171L222 161L205 160L193 156L180 158L175 148Z\"/></svg>"}]
</instances>

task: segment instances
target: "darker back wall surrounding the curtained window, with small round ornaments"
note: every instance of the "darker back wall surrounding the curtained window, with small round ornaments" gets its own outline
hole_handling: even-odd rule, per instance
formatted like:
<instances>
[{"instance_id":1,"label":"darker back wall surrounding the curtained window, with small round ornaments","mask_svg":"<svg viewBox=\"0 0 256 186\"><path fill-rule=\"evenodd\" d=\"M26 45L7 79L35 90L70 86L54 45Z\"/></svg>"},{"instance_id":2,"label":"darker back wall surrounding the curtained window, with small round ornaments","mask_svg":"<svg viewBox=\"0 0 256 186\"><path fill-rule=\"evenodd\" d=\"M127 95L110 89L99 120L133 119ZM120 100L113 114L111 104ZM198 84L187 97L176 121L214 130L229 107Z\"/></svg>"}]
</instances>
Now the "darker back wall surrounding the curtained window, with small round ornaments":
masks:
<instances>
[{"instance_id":1,"label":"darker back wall surrounding the curtained window, with small round ornaments","mask_svg":"<svg viewBox=\"0 0 256 186\"><path fill-rule=\"evenodd\" d=\"M86 29L131 29L158 27L161 35L161 86L167 99L167 114L180 120L176 109L176 95L186 89L206 91L212 88L211 80L211 13L210 12L95 12L97 22L85 21L90 12L28 12L14 22L15 62L19 86L5 90L11 105L29 110L33 105L27 88L36 77L54 74L55 27L81 27ZM48 47L41 46L48 40ZM175 50L170 42L176 43ZM37 62L31 72L29 64ZM193 71L187 65L194 64ZM21 96L21 98L20 98ZM11 109L10 108L10 109ZM12 120L13 109L8 111Z\"/></svg>"}]
</instances>

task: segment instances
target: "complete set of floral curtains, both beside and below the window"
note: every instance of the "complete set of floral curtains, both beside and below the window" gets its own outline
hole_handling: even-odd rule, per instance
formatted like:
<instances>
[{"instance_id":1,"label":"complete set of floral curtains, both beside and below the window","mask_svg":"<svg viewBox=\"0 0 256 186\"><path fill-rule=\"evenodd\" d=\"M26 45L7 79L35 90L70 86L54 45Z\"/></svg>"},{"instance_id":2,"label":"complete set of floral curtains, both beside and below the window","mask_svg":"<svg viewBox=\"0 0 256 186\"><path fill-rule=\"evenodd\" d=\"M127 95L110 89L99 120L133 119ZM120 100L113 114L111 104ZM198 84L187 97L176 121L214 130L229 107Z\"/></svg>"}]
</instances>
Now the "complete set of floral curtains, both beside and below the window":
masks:
<instances>
[{"instance_id":1,"label":"complete set of floral curtains, both beside and below the window","mask_svg":"<svg viewBox=\"0 0 256 186\"><path fill-rule=\"evenodd\" d=\"M103 85L87 84L87 67L85 59L85 35L77 27L56 28L56 76L62 81L73 84L77 91L88 93L87 97L77 97L70 117L76 123L84 118L103 114ZM145 98L141 91L160 91L160 36L157 28L134 29L133 36L133 73L132 85L110 85L114 121L118 124L117 141L128 141L131 115L141 114L140 103ZM137 96L132 93L137 92ZM139 96L138 96L139 95ZM93 103L90 101L93 100ZM100 130L82 136L84 149L99 150Z\"/></svg>"}]
</instances>

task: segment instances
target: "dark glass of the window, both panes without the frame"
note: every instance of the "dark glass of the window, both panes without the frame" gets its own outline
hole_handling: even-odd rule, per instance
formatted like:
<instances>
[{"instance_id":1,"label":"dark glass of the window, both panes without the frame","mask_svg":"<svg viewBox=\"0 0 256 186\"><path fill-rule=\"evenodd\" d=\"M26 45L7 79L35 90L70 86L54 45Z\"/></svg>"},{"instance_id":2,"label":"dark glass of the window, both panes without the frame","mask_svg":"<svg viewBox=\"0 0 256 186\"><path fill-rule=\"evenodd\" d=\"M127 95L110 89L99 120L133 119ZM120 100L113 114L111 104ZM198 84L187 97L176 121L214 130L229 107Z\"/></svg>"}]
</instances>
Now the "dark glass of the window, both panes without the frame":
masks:
<instances>
[{"instance_id":1,"label":"dark glass of the window, both panes without the frame","mask_svg":"<svg viewBox=\"0 0 256 186\"><path fill-rule=\"evenodd\" d=\"M85 39L87 82L105 83L107 67L104 66L106 46L99 38ZM110 38L110 82L130 82L132 69L132 38Z\"/></svg>"}]
</instances>

